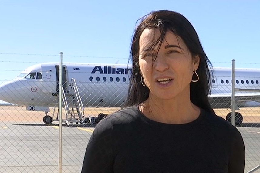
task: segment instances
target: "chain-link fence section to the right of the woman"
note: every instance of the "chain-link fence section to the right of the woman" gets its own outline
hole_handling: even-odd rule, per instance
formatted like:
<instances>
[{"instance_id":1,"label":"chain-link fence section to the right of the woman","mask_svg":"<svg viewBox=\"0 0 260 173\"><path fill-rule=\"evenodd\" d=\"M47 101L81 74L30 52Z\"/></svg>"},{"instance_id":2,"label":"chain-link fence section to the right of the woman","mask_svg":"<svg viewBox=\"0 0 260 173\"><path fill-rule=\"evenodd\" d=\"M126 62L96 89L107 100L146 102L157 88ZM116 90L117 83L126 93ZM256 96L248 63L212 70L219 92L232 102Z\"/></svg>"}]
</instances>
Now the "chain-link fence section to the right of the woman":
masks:
<instances>
[{"instance_id":1,"label":"chain-link fence section to the right of the woman","mask_svg":"<svg viewBox=\"0 0 260 173\"><path fill-rule=\"evenodd\" d=\"M214 69L210 103L218 116L231 123L232 75L230 68ZM235 126L246 149L245 172L260 172L260 69L235 69Z\"/></svg>"}]
</instances>

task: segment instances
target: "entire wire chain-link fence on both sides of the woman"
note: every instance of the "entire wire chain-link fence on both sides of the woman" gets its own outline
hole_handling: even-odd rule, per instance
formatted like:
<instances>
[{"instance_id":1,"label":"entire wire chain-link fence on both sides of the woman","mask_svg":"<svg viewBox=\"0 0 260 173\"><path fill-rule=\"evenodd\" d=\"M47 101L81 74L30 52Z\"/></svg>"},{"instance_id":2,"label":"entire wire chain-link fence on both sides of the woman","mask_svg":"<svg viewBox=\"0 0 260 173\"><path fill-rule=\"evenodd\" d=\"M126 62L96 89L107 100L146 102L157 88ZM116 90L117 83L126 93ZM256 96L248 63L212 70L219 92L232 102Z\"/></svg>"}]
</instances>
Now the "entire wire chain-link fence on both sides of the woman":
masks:
<instances>
[{"instance_id":1,"label":"entire wire chain-link fence on both sides of the woman","mask_svg":"<svg viewBox=\"0 0 260 173\"><path fill-rule=\"evenodd\" d=\"M126 99L131 70L76 63L63 67L62 172L80 172L95 125ZM0 172L58 172L59 63L38 63L19 73L15 80L0 81L0 100L12 103L0 107ZM245 172L260 165L259 74L235 71L235 124L245 142ZM228 120L231 79L231 68L215 69L210 96L216 114Z\"/></svg>"}]
</instances>

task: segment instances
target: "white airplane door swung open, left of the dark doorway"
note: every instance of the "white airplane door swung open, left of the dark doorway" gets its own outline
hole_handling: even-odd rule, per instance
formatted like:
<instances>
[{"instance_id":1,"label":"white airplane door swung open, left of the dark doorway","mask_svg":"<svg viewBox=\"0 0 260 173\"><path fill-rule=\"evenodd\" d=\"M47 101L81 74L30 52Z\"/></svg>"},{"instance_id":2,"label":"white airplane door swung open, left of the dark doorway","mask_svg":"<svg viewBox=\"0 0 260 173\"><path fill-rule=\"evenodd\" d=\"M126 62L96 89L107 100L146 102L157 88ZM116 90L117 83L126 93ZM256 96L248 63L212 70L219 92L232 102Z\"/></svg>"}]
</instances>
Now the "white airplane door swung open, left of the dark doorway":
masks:
<instances>
[{"instance_id":1,"label":"white airplane door swung open, left of the dark doorway","mask_svg":"<svg viewBox=\"0 0 260 173\"><path fill-rule=\"evenodd\" d=\"M56 92L56 70L54 65L42 65L42 91L43 93Z\"/></svg>"}]
</instances>

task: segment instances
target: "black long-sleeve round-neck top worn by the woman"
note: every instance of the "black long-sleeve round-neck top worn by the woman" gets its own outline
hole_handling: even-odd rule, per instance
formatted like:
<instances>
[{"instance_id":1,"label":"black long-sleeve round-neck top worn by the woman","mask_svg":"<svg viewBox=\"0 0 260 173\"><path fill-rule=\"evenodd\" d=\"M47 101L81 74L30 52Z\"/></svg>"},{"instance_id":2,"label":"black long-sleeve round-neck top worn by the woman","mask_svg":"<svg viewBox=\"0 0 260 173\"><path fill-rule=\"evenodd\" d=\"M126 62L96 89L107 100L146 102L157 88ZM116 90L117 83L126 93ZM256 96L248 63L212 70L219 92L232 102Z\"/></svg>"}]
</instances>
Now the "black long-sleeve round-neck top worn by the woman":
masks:
<instances>
[{"instance_id":1,"label":"black long-sleeve round-neck top worn by the woman","mask_svg":"<svg viewBox=\"0 0 260 173\"><path fill-rule=\"evenodd\" d=\"M164 124L133 106L97 124L82 173L244 173L244 167L242 136L223 118L201 109L190 123Z\"/></svg>"}]
</instances>

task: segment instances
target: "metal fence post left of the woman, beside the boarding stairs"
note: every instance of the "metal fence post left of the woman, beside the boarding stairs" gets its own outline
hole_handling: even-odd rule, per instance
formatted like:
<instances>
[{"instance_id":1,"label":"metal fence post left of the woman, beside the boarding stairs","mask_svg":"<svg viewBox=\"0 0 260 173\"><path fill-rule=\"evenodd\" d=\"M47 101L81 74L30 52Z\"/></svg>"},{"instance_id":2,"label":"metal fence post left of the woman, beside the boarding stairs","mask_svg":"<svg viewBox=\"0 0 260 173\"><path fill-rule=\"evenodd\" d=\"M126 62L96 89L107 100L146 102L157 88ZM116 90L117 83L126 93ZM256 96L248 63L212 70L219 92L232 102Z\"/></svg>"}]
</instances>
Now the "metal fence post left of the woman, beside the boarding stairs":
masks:
<instances>
[{"instance_id":1,"label":"metal fence post left of the woman, beside the boarding stairs","mask_svg":"<svg viewBox=\"0 0 260 173\"><path fill-rule=\"evenodd\" d=\"M59 173L62 173L62 55L60 52L60 62L59 62Z\"/></svg>"}]
</instances>

